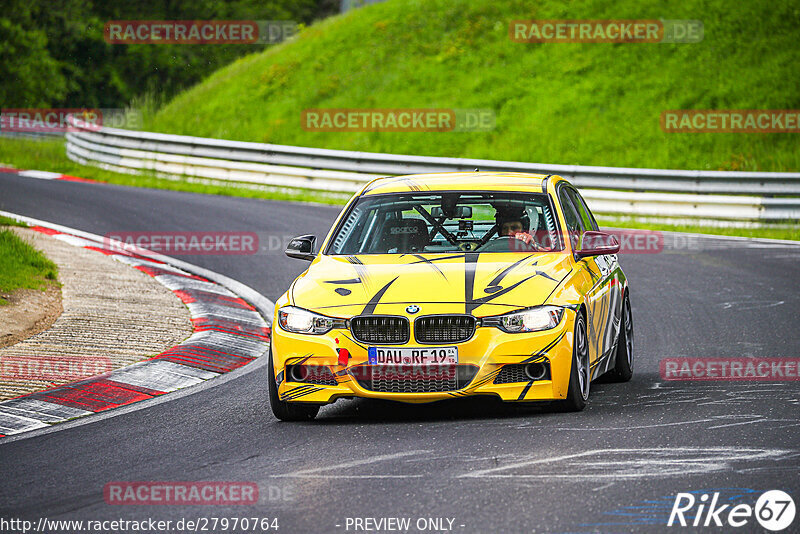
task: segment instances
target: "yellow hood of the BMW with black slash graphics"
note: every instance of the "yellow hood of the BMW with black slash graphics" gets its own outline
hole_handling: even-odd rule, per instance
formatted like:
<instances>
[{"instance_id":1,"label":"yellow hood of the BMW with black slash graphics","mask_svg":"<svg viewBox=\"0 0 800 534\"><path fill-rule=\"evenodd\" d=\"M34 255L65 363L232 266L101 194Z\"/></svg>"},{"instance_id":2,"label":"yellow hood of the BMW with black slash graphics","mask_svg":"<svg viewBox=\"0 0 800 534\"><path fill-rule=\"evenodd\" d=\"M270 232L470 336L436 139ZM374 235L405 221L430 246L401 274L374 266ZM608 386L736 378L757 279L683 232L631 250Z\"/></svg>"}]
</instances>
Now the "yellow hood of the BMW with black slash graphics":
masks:
<instances>
[{"instance_id":1,"label":"yellow hood of the BMW with black slash graphics","mask_svg":"<svg viewBox=\"0 0 800 534\"><path fill-rule=\"evenodd\" d=\"M560 253L319 256L293 284L296 306L359 314L497 315L543 304L571 268Z\"/></svg>"}]
</instances>

